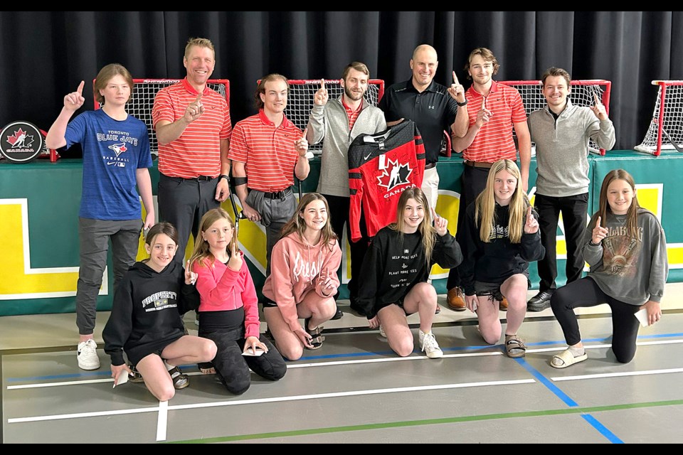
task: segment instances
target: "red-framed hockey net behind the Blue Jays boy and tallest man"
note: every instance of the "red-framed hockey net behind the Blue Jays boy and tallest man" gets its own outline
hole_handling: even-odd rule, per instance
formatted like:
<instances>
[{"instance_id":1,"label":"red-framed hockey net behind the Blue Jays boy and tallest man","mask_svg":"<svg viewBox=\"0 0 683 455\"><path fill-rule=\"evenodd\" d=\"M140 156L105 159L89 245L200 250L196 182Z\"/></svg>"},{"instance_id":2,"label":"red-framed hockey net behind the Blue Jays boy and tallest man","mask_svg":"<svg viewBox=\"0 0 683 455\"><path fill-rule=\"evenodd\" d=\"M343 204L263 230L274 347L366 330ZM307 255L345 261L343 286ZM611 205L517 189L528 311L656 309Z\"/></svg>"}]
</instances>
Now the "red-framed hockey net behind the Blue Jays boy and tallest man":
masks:
<instances>
[{"instance_id":1,"label":"red-framed hockey net behind the Blue Jays boy and tallest man","mask_svg":"<svg viewBox=\"0 0 683 455\"><path fill-rule=\"evenodd\" d=\"M152 155L159 155L159 143L157 141L157 132L154 131L154 124L152 123L152 107L154 107L154 97L157 92L164 87L174 85L180 82L181 79L133 79L133 92L130 95L130 100L126 103L126 112L133 117L142 120L147 125L147 134L149 134L149 150ZM209 79L206 85L216 90L228 102L228 109L230 109L230 81L227 79ZM95 79L92 80L93 92L95 91ZM93 95L94 97L94 95ZM100 103L94 99L95 109L100 109Z\"/></svg>"}]
</instances>

